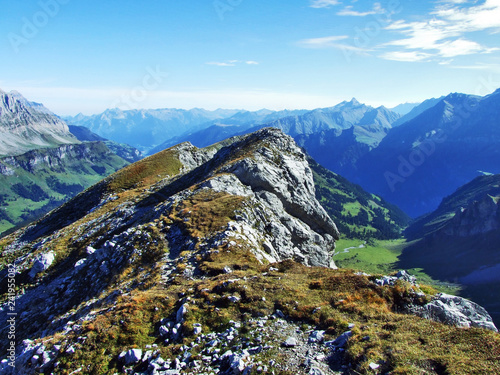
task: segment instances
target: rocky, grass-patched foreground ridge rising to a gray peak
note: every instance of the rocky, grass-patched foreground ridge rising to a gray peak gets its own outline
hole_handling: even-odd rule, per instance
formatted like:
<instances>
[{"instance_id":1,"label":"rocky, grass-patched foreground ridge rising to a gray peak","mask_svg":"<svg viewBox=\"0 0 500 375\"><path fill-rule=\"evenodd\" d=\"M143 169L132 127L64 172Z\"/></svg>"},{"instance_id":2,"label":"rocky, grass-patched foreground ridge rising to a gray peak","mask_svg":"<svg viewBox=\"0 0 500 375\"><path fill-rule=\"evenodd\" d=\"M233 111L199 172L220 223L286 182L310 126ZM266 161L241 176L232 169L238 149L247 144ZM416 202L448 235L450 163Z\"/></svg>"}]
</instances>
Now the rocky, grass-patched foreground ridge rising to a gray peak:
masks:
<instances>
[{"instance_id":1,"label":"rocky, grass-patched foreground ridge rising to a gray peak","mask_svg":"<svg viewBox=\"0 0 500 375\"><path fill-rule=\"evenodd\" d=\"M500 370L495 332L395 312L434 298L408 281L304 265L330 265L335 238L283 133L165 150L0 241L2 291L15 274L22 311L15 369L0 371Z\"/></svg>"}]
</instances>

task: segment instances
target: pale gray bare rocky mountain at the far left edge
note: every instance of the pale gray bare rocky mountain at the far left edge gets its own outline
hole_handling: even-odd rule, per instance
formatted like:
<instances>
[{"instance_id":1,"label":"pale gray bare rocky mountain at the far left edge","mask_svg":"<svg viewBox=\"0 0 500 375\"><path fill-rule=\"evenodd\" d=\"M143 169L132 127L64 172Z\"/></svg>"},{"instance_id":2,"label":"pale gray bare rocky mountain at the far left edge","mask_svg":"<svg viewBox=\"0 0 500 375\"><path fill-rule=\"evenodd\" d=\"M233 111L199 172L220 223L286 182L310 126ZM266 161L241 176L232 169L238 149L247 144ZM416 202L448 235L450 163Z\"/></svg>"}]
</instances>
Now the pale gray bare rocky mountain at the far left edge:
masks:
<instances>
[{"instance_id":1,"label":"pale gray bare rocky mountain at the far left edge","mask_svg":"<svg viewBox=\"0 0 500 375\"><path fill-rule=\"evenodd\" d=\"M0 156L74 143L68 126L43 105L0 90Z\"/></svg>"}]
</instances>

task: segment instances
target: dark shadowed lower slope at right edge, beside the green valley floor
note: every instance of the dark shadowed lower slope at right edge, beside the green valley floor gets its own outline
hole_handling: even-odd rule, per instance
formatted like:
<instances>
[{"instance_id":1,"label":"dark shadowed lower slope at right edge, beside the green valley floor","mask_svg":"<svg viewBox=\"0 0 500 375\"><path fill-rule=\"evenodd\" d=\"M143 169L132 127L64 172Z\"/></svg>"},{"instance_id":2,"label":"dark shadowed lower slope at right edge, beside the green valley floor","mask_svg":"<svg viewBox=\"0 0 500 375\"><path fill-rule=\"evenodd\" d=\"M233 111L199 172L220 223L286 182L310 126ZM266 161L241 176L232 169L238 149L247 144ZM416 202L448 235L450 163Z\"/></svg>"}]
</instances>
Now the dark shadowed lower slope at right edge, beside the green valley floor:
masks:
<instances>
[{"instance_id":1,"label":"dark shadowed lower slope at right edge, beside the green valley floor","mask_svg":"<svg viewBox=\"0 0 500 375\"><path fill-rule=\"evenodd\" d=\"M417 241L400 266L412 264L441 280L463 285L463 295L500 322L500 175L481 176L443 199L407 229ZM446 265L443 267L443 264Z\"/></svg>"}]
</instances>

